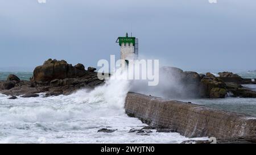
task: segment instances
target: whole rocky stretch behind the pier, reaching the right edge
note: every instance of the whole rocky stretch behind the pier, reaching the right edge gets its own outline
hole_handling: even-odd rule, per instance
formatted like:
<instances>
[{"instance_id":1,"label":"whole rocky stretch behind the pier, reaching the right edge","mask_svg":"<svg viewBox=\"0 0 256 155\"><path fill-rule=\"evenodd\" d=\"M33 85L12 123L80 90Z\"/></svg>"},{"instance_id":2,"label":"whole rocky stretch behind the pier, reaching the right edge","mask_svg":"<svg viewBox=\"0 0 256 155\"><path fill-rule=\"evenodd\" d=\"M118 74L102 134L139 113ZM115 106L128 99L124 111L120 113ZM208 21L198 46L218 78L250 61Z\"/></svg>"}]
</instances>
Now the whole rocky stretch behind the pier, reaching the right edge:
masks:
<instances>
[{"instance_id":1,"label":"whole rocky stretch behind the pier, reaching the right edge","mask_svg":"<svg viewBox=\"0 0 256 155\"><path fill-rule=\"evenodd\" d=\"M168 78L171 78L175 85L184 87L182 92L176 91L176 87L173 90L167 87L159 88L165 89L163 93L175 94L175 97L189 97L189 98L225 98L228 95L230 97L242 97L242 98L256 98L256 92L243 87L238 82L225 82L225 79L243 79L237 74L232 72L218 73L219 77L214 76L212 73L199 74L196 72L187 72L179 68L165 66L160 68L159 78L162 79L163 84ZM160 81L161 82L161 81ZM168 82L168 81L167 81ZM171 91L170 91L171 90Z\"/></svg>"}]
</instances>

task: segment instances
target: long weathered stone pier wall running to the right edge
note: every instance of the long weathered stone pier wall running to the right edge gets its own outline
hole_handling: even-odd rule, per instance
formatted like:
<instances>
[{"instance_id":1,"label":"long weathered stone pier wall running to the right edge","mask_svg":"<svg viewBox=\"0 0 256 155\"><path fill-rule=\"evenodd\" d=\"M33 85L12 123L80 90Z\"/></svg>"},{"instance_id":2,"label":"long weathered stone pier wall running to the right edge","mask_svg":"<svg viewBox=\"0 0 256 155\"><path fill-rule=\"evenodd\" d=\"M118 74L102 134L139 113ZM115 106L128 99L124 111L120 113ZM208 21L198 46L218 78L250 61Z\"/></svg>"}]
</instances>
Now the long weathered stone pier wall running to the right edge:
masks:
<instances>
[{"instance_id":1,"label":"long weathered stone pier wall running to the right edge","mask_svg":"<svg viewBox=\"0 0 256 155\"><path fill-rule=\"evenodd\" d=\"M186 137L229 138L256 134L256 118L143 94L128 93L125 111L153 127Z\"/></svg>"}]
</instances>

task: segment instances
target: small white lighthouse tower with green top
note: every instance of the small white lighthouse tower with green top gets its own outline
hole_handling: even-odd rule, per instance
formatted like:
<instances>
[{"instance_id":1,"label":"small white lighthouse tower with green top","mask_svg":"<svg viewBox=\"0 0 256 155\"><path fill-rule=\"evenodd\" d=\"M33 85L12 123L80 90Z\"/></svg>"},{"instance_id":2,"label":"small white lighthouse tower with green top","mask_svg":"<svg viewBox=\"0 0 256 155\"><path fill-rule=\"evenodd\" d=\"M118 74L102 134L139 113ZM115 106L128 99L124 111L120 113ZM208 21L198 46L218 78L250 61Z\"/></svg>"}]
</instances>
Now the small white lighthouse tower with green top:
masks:
<instances>
[{"instance_id":1,"label":"small white lighthouse tower with green top","mask_svg":"<svg viewBox=\"0 0 256 155\"><path fill-rule=\"evenodd\" d=\"M119 43L121 59L128 62L128 60L138 59L138 39L136 37L128 36L118 37L116 43Z\"/></svg>"}]
</instances>

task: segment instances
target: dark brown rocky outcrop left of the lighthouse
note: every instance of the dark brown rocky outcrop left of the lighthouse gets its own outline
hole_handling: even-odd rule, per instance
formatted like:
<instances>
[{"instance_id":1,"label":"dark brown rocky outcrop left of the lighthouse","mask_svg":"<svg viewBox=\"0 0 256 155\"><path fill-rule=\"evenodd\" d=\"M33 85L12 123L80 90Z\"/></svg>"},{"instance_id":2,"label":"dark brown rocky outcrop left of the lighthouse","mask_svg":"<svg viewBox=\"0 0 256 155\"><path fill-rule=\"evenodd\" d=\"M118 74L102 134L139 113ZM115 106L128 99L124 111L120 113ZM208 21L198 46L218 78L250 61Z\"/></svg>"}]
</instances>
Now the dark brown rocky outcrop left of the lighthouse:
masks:
<instances>
[{"instance_id":1,"label":"dark brown rocky outcrop left of the lighthouse","mask_svg":"<svg viewBox=\"0 0 256 155\"><path fill-rule=\"evenodd\" d=\"M38 93L45 93L49 97L71 94L81 88L93 89L104 83L94 71L93 68L85 70L82 64L72 66L65 60L48 59L34 69L30 81L19 80L15 75L10 75L8 81L0 81L0 93L24 97L38 97Z\"/></svg>"}]
</instances>

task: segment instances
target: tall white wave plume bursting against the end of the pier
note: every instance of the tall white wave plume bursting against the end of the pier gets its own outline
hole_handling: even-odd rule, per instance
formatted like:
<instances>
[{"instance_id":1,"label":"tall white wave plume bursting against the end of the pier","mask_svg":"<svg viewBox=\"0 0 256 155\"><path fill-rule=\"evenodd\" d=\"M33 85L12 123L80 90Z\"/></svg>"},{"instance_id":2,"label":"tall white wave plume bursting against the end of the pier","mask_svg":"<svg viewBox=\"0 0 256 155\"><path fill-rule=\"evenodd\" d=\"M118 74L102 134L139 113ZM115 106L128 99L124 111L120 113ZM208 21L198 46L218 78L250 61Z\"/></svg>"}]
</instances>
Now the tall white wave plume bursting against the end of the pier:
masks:
<instances>
[{"instance_id":1,"label":"tall white wave plume bursting against the end of the pier","mask_svg":"<svg viewBox=\"0 0 256 155\"><path fill-rule=\"evenodd\" d=\"M130 83L129 80L124 78L126 76L126 71L120 68L106 81L105 85L98 86L89 92L87 90L79 90L70 95L70 97L74 97L77 103L101 103L106 104L109 108L123 111Z\"/></svg>"}]
</instances>

